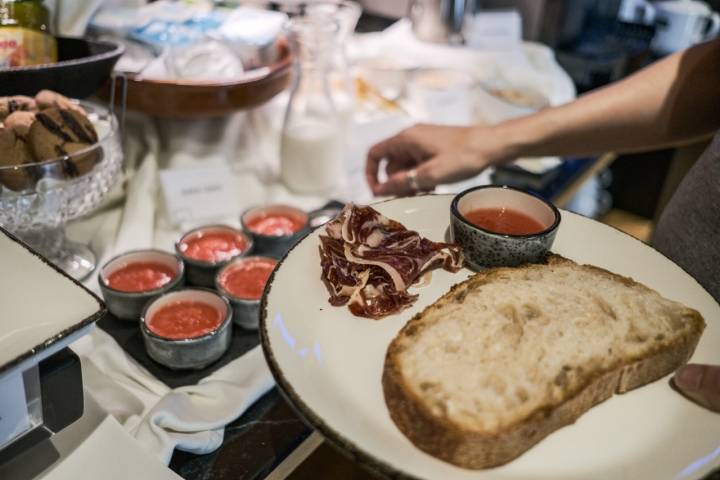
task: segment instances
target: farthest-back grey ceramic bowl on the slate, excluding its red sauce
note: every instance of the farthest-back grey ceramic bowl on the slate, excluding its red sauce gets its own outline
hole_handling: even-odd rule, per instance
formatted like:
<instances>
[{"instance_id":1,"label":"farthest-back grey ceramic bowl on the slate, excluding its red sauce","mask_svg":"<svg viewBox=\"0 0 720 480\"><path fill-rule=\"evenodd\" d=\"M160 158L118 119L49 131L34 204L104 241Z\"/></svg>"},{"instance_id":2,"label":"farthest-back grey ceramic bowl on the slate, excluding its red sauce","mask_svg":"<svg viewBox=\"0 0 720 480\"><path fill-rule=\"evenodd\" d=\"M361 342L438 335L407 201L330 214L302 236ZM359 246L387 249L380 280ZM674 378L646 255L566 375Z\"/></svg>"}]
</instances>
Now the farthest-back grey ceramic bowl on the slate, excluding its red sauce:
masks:
<instances>
[{"instance_id":1,"label":"farthest-back grey ceramic bowl on the slate, excluding its red sauce","mask_svg":"<svg viewBox=\"0 0 720 480\"><path fill-rule=\"evenodd\" d=\"M292 235L263 235L253 231L251 223L254 218L265 215L288 215L296 218L302 227ZM240 217L242 228L253 239L255 252L276 259L282 258L293 245L310 232L310 216L289 205L267 205L246 210Z\"/></svg>"}]
</instances>

